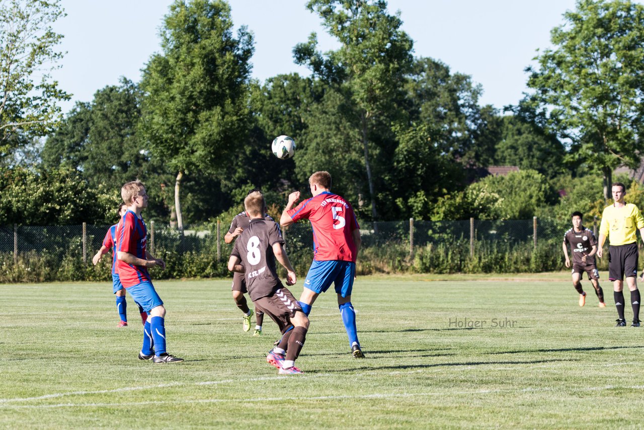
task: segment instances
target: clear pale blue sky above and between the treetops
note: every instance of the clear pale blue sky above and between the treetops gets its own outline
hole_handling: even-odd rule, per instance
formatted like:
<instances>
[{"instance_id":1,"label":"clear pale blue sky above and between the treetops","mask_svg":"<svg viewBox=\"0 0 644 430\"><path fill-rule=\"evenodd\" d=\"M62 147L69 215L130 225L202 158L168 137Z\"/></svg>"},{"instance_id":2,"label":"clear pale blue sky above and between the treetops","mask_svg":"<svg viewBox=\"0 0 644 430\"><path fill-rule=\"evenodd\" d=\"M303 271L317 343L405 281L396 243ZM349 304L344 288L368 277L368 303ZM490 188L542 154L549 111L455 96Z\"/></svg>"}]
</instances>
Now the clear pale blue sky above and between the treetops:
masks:
<instances>
[{"instance_id":1,"label":"clear pale blue sky above and between the treetops","mask_svg":"<svg viewBox=\"0 0 644 430\"><path fill-rule=\"evenodd\" d=\"M67 54L54 73L75 101L118 83L120 76L140 80L140 70L160 51L158 28L170 0L62 0L67 16L55 23ZM308 70L296 66L292 48L317 32L319 47L337 47L305 8L306 0L230 0L232 21L254 33L252 76L261 81L279 73ZM536 49L550 46L550 30L574 10L574 0L390 0L401 11L403 30L414 41L416 57L432 57L452 72L471 75L482 85L481 104L516 104L526 91L524 68Z\"/></svg>"}]
</instances>

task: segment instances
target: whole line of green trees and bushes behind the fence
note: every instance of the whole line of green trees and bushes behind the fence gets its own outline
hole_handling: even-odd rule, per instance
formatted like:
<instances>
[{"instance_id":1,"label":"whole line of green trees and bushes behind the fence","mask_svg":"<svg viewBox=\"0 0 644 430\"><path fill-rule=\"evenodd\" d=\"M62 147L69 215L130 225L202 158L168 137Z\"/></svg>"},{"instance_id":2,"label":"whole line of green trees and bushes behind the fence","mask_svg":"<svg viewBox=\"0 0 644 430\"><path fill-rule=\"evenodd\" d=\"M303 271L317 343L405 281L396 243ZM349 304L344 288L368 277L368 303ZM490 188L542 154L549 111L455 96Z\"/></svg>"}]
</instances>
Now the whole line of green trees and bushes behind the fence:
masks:
<instances>
[{"instance_id":1,"label":"whole line of green trees and bushes behind the fence","mask_svg":"<svg viewBox=\"0 0 644 430\"><path fill-rule=\"evenodd\" d=\"M120 186L140 179L147 219L182 230L240 208L251 188L281 204L316 170L361 220L568 217L598 211L612 171L639 166L639 4L578 1L526 68L530 92L503 110L480 105L469 75L414 57L385 1L306 7L340 46L321 52L316 34L296 44L310 76L251 79L254 36L233 32L230 6L175 1L142 79L63 116L56 103L71 96L43 73L62 58L60 2L0 3L0 224L109 224ZM294 159L270 153L281 134L296 140ZM480 179L491 165L519 171Z\"/></svg>"}]
</instances>

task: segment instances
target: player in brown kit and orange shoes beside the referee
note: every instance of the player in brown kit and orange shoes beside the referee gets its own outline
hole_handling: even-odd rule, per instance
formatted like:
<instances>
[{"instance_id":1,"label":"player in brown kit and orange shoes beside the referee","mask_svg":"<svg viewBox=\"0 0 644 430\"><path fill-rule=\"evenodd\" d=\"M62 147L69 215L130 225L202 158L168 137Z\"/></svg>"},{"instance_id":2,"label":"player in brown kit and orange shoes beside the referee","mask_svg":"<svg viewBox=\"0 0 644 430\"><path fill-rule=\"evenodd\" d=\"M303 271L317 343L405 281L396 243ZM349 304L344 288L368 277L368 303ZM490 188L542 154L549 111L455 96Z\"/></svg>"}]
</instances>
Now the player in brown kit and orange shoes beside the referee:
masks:
<instances>
[{"instance_id":1,"label":"player in brown kit and orange shoes beside the referee","mask_svg":"<svg viewBox=\"0 0 644 430\"><path fill-rule=\"evenodd\" d=\"M573 212L573 228L565 232L564 248L565 266L570 267L568 245L573 253L573 287L579 293L579 306L586 304L586 293L582 289L582 274L585 272L600 299L600 308L605 308L603 291L600 287L600 274L597 271L594 255L597 253L597 239L591 230L582 225L581 212Z\"/></svg>"}]
</instances>

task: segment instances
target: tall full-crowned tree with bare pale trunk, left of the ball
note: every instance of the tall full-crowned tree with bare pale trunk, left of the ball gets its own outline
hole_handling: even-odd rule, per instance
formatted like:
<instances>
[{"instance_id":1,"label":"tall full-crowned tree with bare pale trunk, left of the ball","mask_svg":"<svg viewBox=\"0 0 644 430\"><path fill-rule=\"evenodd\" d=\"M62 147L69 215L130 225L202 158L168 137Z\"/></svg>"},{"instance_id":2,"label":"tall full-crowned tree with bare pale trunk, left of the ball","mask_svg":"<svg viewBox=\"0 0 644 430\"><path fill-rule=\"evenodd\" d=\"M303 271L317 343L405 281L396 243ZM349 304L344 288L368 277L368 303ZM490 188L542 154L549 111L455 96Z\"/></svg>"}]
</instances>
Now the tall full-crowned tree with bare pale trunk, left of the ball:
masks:
<instances>
[{"instance_id":1,"label":"tall full-crowned tree with bare pale trunk, left of the ball","mask_svg":"<svg viewBox=\"0 0 644 430\"><path fill-rule=\"evenodd\" d=\"M242 26L232 37L231 9L221 0L175 1L160 35L162 54L151 57L140 83L141 130L153 155L176 172L183 230L184 175L221 171L247 134L252 36Z\"/></svg>"}]
</instances>

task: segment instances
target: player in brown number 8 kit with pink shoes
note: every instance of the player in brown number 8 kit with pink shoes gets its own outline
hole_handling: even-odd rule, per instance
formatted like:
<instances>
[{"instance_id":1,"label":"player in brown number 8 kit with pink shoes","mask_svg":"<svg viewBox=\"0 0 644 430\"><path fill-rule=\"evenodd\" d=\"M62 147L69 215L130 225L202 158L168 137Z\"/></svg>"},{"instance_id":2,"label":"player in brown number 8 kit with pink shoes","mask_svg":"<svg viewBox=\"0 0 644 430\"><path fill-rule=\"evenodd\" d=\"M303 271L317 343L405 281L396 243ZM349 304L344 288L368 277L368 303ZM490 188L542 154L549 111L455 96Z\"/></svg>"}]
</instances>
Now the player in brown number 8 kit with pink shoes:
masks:
<instances>
[{"instance_id":1,"label":"player in brown number 8 kit with pink shoes","mask_svg":"<svg viewBox=\"0 0 644 430\"><path fill-rule=\"evenodd\" d=\"M265 202L260 191L247 195L244 207L251 222L235 240L228 269L244 274L251 300L278 324L282 333L266 361L278 367L280 375L303 373L295 367L295 360L306 340L308 317L277 275L276 259L287 269L287 285L296 283L295 270L284 251L284 239L278 224L264 219Z\"/></svg>"}]
</instances>

